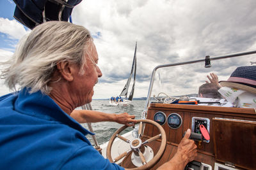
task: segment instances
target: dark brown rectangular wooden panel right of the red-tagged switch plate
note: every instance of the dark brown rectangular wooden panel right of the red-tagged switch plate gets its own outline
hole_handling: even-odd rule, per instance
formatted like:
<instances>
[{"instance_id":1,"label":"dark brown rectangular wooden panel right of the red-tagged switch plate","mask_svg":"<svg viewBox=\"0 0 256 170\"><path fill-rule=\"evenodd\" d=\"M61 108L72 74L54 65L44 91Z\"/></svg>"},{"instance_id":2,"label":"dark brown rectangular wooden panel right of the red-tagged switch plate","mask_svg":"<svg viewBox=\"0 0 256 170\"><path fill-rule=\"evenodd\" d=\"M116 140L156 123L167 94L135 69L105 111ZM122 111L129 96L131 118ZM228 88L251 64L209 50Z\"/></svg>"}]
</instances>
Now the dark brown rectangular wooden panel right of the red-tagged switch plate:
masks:
<instances>
[{"instance_id":1,"label":"dark brown rectangular wooden panel right of the red-tagged switch plate","mask_svg":"<svg viewBox=\"0 0 256 170\"><path fill-rule=\"evenodd\" d=\"M216 159L256 169L256 122L214 119Z\"/></svg>"}]
</instances>

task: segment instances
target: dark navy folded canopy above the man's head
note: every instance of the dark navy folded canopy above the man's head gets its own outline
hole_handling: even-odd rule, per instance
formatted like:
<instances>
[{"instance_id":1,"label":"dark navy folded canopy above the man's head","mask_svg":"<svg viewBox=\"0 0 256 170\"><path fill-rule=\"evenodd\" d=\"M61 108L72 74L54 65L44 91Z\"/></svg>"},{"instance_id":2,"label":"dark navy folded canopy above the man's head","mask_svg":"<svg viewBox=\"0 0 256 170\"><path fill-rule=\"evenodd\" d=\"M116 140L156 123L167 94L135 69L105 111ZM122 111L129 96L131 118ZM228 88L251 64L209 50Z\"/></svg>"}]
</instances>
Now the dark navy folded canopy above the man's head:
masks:
<instances>
[{"instance_id":1,"label":"dark navy folded canopy above the man's head","mask_svg":"<svg viewBox=\"0 0 256 170\"><path fill-rule=\"evenodd\" d=\"M13 17L19 20L20 23L33 29L38 24L45 20L59 20L61 12L61 20L68 21L74 6L81 3L82 0L13 0L16 4ZM63 8L63 9L62 9Z\"/></svg>"}]
</instances>

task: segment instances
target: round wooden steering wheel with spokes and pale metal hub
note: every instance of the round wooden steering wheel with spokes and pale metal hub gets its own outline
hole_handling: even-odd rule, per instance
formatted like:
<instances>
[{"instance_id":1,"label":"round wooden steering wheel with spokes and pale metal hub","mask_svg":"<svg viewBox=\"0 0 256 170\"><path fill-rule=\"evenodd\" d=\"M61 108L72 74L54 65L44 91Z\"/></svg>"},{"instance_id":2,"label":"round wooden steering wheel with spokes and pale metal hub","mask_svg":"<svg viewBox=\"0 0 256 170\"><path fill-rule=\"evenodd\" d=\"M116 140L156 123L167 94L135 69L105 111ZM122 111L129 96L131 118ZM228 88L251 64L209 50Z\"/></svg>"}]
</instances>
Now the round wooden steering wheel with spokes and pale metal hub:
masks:
<instances>
[{"instance_id":1,"label":"round wooden steering wheel with spokes and pale metal hub","mask_svg":"<svg viewBox=\"0 0 256 170\"><path fill-rule=\"evenodd\" d=\"M138 130L139 137L132 139L132 141L119 135L120 132L124 131L124 129L127 128L126 125L124 125L123 127L120 127L120 129L118 129L113 134L113 136L111 136L109 143L108 143L108 147L107 147L107 158L109 159L110 162L117 162L118 160L125 157L130 151L132 151L132 152L136 153L137 155L140 155L141 163L143 164L143 166L132 168L132 169L142 170L142 169L149 169L150 167L154 166L154 164L156 164L157 160L160 159L161 155L164 152L165 146L166 146L166 134L164 132L163 127L161 125L159 125L157 122L154 122L153 120L141 119L141 120L138 120L138 122L136 124L138 124L139 122L140 122L140 127ZM144 141L142 143L140 138L141 138L141 134L142 134L143 123L152 124L152 125L156 126L157 129L159 130L160 134L157 134L156 136L154 136L150 139L147 139L146 141ZM112 159L111 147L112 147L113 141L115 140L116 137L122 139L126 143L129 143L131 150L128 150L127 152L120 154L115 159ZM141 152L141 147L143 147L144 145L147 145L147 143L155 141L156 139L159 139L159 138L161 138L161 145L160 145L158 152L156 153L156 155L154 155L153 159L151 159L149 162L146 162L145 157L143 156L143 153Z\"/></svg>"}]
</instances>

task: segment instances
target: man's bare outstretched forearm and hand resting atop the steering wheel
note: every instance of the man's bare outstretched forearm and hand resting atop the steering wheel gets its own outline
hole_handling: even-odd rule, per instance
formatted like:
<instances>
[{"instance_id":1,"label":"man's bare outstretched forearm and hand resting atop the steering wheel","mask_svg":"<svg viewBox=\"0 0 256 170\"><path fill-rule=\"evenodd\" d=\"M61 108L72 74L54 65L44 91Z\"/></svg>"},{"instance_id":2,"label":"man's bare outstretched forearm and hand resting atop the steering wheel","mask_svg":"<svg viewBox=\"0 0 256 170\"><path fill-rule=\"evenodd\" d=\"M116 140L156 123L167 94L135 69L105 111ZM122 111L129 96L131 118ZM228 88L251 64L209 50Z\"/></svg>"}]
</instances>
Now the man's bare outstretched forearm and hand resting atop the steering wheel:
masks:
<instances>
[{"instance_id":1,"label":"man's bare outstretched forearm and hand resting atop the steering wheel","mask_svg":"<svg viewBox=\"0 0 256 170\"><path fill-rule=\"evenodd\" d=\"M74 110L70 114L70 117L74 118L80 124L92 123L92 122L117 122L119 124L125 124L127 126L132 126L137 120L134 120L134 115L129 115L128 113L103 113L100 111L93 110Z\"/></svg>"}]
</instances>

